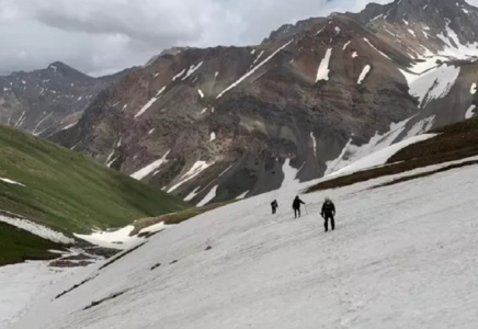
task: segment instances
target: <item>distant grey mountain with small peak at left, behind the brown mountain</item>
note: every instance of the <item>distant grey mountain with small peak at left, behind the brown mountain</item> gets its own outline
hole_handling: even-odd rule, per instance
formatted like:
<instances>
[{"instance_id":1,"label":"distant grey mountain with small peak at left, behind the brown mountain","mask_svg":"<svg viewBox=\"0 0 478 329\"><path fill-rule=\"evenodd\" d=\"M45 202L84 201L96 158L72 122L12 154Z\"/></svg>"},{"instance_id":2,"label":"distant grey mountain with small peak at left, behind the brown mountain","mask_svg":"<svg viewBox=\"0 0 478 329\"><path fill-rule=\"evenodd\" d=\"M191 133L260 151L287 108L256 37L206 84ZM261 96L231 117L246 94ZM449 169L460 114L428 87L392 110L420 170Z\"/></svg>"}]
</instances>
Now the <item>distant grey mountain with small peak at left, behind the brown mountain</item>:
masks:
<instances>
[{"instance_id":1,"label":"distant grey mountain with small peak at left, behind the brown mountain","mask_svg":"<svg viewBox=\"0 0 478 329\"><path fill-rule=\"evenodd\" d=\"M0 123L34 135L71 126L104 88L134 69L92 78L62 64L0 77Z\"/></svg>"}]
</instances>

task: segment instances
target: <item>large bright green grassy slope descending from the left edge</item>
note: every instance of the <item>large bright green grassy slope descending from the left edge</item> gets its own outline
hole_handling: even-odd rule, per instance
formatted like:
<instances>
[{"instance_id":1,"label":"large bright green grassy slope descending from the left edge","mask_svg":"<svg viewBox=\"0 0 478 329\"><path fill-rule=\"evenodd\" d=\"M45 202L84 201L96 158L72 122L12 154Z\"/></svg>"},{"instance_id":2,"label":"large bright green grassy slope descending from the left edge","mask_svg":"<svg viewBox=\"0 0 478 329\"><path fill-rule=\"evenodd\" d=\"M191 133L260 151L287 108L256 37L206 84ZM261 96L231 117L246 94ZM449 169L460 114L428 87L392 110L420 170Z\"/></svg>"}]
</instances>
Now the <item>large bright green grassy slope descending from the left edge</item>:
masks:
<instances>
[{"instance_id":1,"label":"large bright green grassy slope descending from the left edge","mask_svg":"<svg viewBox=\"0 0 478 329\"><path fill-rule=\"evenodd\" d=\"M182 201L49 141L0 126L0 209L86 232L184 209Z\"/></svg>"}]
</instances>

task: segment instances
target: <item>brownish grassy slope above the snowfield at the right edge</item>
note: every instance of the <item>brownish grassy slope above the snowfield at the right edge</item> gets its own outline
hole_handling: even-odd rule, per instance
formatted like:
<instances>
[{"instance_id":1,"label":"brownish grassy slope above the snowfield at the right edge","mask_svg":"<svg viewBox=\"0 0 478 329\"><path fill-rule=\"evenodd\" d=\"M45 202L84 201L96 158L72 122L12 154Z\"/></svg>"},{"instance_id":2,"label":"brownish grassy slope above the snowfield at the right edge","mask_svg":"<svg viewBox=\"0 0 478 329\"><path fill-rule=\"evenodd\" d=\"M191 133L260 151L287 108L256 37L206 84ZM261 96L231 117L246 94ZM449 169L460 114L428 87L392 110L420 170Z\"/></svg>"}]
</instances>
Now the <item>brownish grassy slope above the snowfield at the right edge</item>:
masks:
<instances>
[{"instance_id":1,"label":"brownish grassy slope above the snowfield at the right edge","mask_svg":"<svg viewBox=\"0 0 478 329\"><path fill-rule=\"evenodd\" d=\"M401 149L387 161L386 167L338 177L311 186L307 192L337 189L383 175L478 156L478 118L470 118L430 133L439 135Z\"/></svg>"}]
</instances>

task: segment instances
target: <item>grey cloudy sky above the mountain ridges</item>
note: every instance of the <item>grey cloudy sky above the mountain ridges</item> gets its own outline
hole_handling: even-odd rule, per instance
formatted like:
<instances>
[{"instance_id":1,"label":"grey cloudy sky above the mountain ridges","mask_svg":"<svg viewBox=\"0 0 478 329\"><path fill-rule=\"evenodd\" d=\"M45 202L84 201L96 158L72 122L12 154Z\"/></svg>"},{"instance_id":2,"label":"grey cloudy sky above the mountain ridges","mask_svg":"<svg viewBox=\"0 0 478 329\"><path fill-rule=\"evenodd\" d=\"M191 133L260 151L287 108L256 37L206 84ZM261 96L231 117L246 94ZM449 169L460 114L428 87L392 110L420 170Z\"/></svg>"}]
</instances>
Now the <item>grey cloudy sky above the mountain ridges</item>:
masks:
<instances>
[{"instance_id":1,"label":"grey cloudy sky above the mountain ridges","mask_svg":"<svg viewBox=\"0 0 478 329\"><path fill-rule=\"evenodd\" d=\"M0 0L0 75L61 60L99 76L141 65L171 46L257 44L284 23L358 11L367 2Z\"/></svg>"}]
</instances>

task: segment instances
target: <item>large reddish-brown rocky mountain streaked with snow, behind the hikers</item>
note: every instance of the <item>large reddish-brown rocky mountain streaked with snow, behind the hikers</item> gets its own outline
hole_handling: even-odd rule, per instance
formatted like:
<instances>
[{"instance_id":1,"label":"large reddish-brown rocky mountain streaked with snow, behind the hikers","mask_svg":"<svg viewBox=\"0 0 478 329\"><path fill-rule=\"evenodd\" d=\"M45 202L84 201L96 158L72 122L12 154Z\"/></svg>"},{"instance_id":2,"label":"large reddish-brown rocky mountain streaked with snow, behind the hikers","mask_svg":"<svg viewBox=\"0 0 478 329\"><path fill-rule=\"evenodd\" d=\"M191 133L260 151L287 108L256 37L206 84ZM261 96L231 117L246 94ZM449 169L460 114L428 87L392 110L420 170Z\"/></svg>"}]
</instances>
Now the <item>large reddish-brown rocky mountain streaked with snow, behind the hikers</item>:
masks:
<instances>
[{"instance_id":1,"label":"large reddish-brown rocky mountain streaked with snow, behind the hikers","mask_svg":"<svg viewBox=\"0 0 478 329\"><path fill-rule=\"evenodd\" d=\"M477 22L463 0L397 0L258 46L175 48L50 139L197 205L321 178L474 116Z\"/></svg>"}]
</instances>

